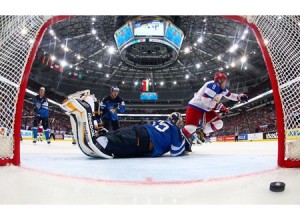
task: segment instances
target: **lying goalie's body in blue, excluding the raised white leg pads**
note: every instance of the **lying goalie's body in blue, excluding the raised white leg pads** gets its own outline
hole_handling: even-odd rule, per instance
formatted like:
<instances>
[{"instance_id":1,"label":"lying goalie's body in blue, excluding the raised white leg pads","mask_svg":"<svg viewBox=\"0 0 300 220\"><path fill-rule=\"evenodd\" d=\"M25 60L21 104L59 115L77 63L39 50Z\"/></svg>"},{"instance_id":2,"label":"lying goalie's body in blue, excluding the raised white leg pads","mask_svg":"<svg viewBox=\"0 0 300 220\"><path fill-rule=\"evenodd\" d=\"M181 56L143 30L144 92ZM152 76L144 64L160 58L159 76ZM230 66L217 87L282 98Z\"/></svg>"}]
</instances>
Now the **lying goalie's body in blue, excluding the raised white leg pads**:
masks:
<instances>
[{"instance_id":1,"label":"lying goalie's body in blue, excluding the raised white leg pads","mask_svg":"<svg viewBox=\"0 0 300 220\"><path fill-rule=\"evenodd\" d=\"M167 120L107 133L97 138L95 144L102 153L111 157L158 157L167 152L171 156L180 156L187 147L179 130L182 126L181 114L173 112Z\"/></svg>"}]
</instances>

